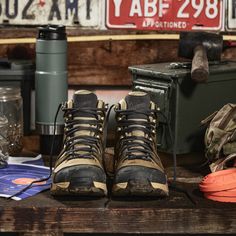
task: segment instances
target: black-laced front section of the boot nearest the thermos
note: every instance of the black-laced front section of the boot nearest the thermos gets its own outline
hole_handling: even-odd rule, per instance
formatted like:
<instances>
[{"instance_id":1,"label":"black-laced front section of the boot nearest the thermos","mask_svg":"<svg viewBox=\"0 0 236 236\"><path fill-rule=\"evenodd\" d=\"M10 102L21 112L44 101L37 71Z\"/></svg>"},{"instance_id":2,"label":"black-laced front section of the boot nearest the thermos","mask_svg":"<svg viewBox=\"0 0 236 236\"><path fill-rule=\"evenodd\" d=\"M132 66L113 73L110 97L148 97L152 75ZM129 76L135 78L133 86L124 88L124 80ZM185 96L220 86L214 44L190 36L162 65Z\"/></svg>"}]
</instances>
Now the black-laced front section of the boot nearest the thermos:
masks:
<instances>
[{"instance_id":1,"label":"black-laced front section of the boot nearest the thermos","mask_svg":"<svg viewBox=\"0 0 236 236\"><path fill-rule=\"evenodd\" d=\"M96 158L104 149L101 140L105 119L105 108L68 108L63 106L65 118L64 149L60 156L74 158ZM77 114L82 114L77 115ZM60 158L59 156L59 158Z\"/></svg>"}]
</instances>

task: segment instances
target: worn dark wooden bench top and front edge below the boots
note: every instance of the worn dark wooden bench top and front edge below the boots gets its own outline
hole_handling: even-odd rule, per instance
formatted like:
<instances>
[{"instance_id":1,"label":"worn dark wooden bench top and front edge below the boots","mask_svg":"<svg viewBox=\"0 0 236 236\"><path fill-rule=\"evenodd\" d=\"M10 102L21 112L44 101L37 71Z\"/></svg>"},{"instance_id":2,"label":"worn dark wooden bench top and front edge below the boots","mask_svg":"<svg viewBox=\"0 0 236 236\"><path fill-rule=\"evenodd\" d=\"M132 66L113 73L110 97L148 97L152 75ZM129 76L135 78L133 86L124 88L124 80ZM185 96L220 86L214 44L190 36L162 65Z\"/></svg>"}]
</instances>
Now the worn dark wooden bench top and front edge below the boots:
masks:
<instances>
[{"instance_id":1,"label":"worn dark wooden bench top and front edge below the boots","mask_svg":"<svg viewBox=\"0 0 236 236\"><path fill-rule=\"evenodd\" d=\"M196 185L166 199L54 199L46 191L21 202L0 200L0 232L234 234L235 204L203 198Z\"/></svg>"}]
</instances>

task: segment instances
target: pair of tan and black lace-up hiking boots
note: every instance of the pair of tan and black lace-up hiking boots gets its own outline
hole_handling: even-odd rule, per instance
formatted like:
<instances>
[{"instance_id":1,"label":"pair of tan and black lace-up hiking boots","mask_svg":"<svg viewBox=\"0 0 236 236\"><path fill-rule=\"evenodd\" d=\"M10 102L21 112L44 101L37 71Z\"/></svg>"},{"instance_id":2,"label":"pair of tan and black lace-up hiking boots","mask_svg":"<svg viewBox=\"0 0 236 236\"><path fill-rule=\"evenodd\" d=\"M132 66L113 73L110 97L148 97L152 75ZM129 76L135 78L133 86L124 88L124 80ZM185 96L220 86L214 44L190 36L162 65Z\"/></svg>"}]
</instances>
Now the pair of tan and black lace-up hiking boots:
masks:
<instances>
[{"instance_id":1,"label":"pair of tan and black lace-up hiking boots","mask_svg":"<svg viewBox=\"0 0 236 236\"><path fill-rule=\"evenodd\" d=\"M114 196L167 196L164 168L156 151L156 105L131 92L115 106L117 132ZM52 195L106 196L104 151L107 106L87 90L62 108L64 147L53 170Z\"/></svg>"}]
</instances>

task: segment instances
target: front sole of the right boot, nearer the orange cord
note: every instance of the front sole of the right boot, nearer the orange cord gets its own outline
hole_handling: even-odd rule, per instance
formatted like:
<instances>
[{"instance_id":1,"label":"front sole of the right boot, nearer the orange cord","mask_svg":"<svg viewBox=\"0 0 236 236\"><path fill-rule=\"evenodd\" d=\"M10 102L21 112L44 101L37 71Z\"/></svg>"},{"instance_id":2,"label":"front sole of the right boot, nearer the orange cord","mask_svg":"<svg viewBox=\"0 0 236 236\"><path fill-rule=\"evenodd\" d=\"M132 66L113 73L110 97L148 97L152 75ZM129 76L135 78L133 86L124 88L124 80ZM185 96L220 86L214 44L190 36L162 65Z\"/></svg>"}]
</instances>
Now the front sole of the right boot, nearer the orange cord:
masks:
<instances>
[{"instance_id":1,"label":"front sole of the right boot, nearer the orange cord","mask_svg":"<svg viewBox=\"0 0 236 236\"><path fill-rule=\"evenodd\" d=\"M115 197L166 197L169 195L168 185L159 183L140 183L132 180L114 184L112 195Z\"/></svg>"}]
</instances>

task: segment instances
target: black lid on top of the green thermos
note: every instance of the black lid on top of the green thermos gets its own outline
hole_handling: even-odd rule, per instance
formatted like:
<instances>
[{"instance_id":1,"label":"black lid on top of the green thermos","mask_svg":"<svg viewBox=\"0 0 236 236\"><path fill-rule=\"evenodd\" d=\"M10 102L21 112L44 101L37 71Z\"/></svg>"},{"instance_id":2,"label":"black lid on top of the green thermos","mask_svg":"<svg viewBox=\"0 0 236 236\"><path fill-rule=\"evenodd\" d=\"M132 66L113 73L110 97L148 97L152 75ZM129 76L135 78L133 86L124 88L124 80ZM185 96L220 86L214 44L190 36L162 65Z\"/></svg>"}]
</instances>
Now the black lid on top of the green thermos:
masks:
<instances>
[{"instance_id":1,"label":"black lid on top of the green thermos","mask_svg":"<svg viewBox=\"0 0 236 236\"><path fill-rule=\"evenodd\" d=\"M38 39L66 40L66 27L64 25L43 25L39 27Z\"/></svg>"}]
</instances>

